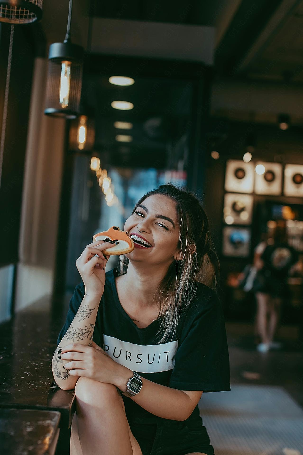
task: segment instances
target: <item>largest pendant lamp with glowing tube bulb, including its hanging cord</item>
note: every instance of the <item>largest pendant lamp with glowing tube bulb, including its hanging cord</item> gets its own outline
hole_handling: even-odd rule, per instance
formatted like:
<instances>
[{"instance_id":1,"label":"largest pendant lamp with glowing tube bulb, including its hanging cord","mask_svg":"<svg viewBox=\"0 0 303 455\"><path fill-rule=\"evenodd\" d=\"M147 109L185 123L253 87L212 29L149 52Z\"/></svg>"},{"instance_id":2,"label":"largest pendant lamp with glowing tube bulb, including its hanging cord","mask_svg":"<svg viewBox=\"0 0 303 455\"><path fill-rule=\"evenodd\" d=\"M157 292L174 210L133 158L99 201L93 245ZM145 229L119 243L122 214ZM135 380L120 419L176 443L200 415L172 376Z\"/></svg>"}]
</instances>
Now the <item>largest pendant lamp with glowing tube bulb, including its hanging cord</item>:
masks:
<instances>
[{"instance_id":1,"label":"largest pendant lamp with glowing tube bulb, including its hanging cord","mask_svg":"<svg viewBox=\"0 0 303 455\"><path fill-rule=\"evenodd\" d=\"M46 88L46 115L74 119L79 116L84 50L70 41L70 0L67 30L63 43L53 43L49 51Z\"/></svg>"}]
</instances>

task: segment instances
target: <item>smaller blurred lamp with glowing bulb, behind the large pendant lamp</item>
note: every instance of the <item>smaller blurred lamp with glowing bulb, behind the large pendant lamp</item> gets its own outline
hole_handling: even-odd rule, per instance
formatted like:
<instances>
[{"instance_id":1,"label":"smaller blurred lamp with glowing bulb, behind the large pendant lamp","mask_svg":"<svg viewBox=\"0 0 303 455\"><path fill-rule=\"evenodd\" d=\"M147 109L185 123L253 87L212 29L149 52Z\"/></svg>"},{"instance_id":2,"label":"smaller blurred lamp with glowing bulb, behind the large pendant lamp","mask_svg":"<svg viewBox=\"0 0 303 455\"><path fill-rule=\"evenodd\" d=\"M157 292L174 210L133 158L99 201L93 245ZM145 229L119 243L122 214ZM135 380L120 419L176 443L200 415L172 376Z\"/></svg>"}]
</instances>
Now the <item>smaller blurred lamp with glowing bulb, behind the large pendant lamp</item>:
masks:
<instances>
[{"instance_id":1,"label":"smaller blurred lamp with glowing bulb, behind the large pendant lamp","mask_svg":"<svg viewBox=\"0 0 303 455\"><path fill-rule=\"evenodd\" d=\"M80 115L70 124L70 150L90 152L94 147L94 120Z\"/></svg>"}]
</instances>

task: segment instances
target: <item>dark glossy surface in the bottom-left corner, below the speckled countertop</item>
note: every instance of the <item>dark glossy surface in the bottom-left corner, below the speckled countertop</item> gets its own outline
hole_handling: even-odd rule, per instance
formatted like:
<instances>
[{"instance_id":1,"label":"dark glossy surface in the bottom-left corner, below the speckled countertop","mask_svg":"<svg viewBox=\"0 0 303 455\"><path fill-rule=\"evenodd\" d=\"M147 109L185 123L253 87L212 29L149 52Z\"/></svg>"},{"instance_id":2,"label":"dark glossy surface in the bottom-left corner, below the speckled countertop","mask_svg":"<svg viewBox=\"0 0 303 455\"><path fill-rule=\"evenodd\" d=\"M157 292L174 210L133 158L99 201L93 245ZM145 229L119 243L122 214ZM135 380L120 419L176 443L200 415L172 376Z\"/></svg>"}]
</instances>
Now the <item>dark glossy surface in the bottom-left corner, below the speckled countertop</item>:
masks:
<instances>
[{"instance_id":1,"label":"dark glossy surface in the bottom-left corner, below the speckled countertop","mask_svg":"<svg viewBox=\"0 0 303 455\"><path fill-rule=\"evenodd\" d=\"M59 437L60 412L2 409L0 446L2 453L54 455Z\"/></svg>"}]
</instances>

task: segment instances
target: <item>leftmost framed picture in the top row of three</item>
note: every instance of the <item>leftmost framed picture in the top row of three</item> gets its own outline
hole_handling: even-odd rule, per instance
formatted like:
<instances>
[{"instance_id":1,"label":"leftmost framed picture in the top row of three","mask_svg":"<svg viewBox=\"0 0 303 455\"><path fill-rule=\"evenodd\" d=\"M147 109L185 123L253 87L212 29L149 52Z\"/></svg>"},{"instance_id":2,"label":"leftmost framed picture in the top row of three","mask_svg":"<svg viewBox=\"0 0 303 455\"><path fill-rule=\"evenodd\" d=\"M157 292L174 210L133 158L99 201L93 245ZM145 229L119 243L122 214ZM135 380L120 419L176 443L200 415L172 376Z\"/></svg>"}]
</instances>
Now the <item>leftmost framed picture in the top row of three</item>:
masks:
<instances>
[{"instance_id":1,"label":"leftmost framed picture in the top row of three","mask_svg":"<svg viewBox=\"0 0 303 455\"><path fill-rule=\"evenodd\" d=\"M252 193L254 179L253 163L243 160L227 160L225 170L225 191Z\"/></svg>"}]
</instances>

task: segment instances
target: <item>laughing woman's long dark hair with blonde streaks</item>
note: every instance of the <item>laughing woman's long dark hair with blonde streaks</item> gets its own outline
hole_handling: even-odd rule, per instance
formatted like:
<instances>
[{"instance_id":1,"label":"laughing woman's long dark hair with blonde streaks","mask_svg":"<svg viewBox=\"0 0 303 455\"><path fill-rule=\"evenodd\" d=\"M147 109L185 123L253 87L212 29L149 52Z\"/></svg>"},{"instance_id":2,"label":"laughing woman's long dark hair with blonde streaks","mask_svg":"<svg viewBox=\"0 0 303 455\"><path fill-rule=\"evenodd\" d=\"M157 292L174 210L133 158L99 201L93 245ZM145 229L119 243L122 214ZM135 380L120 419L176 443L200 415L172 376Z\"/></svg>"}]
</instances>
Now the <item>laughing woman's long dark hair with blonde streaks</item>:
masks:
<instances>
[{"instance_id":1,"label":"laughing woman's long dark hair with blonde streaks","mask_svg":"<svg viewBox=\"0 0 303 455\"><path fill-rule=\"evenodd\" d=\"M170 264L154 295L154 301L159 307L157 319L161 319L159 332L163 332L158 343L162 343L169 339L171 332L174 336L181 309L186 308L194 298L198 283L204 283L211 288L217 287L218 282L209 254L213 252L217 259L218 257L209 236L209 221L202 206L203 202L187 188L179 189L172 183L160 185L139 199L132 214L139 204L154 194L167 196L176 204L178 248L182 258ZM119 275L126 273L128 263L129 259L121 255L117 267Z\"/></svg>"}]
</instances>

